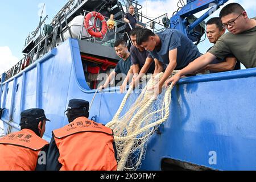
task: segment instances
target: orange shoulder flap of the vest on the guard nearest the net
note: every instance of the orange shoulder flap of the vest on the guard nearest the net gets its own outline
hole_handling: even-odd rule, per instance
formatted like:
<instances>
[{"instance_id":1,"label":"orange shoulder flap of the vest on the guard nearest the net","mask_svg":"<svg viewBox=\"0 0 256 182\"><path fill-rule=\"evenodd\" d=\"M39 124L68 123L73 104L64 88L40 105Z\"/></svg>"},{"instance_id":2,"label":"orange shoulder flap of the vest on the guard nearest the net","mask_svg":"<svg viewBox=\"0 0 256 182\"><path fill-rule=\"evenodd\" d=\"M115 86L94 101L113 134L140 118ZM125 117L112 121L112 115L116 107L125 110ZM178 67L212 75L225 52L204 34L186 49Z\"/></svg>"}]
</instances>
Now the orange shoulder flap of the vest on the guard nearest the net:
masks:
<instances>
[{"instance_id":1,"label":"orange shoulder flap of the vest on the guard nearest the net","mask_svg":"<svg viewBox=\"0 0 256 182\"><path fill-rule=\"evenodd\" d=\"M63 138L82 132L101 132L113 135L113 131L108 127L94 121L90 121L85 117L76 118L73 122L69 123L69 125L66 125L61 129L54 130L52 133L55 138Z\"/></svg>"}]
</instances>

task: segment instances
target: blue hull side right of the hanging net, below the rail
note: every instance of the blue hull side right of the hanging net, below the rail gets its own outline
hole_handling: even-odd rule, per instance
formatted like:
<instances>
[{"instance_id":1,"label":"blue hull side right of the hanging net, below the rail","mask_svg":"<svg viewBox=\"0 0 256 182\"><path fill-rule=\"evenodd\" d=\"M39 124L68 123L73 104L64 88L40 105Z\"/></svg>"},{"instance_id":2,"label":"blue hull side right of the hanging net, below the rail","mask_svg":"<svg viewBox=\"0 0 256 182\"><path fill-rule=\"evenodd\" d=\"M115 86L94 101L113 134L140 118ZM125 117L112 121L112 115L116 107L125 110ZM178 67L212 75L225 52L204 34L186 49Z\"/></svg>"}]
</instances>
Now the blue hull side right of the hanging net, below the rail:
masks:
<instances>
[{"instance_id":1,"label":"blue hull side right of the hanging net, below the rail","mask_svg":"<svg viewBox=\"0 0 256 182\"><path fill-rule=\"evenodd\" d=\"M187 78L187 84L175 86L171 117L162 135L151 139L142 169L158 170L150 164L168 156L220 170L255 170L255 69L246 71L253 77L242 77L240 72L218 74L218 81ZM221 79L230 73L238 78ZM200 77L211 76L217 74ZM210 151L216 151L216 165L209 164Z\"/></svg>"}]
</instances>

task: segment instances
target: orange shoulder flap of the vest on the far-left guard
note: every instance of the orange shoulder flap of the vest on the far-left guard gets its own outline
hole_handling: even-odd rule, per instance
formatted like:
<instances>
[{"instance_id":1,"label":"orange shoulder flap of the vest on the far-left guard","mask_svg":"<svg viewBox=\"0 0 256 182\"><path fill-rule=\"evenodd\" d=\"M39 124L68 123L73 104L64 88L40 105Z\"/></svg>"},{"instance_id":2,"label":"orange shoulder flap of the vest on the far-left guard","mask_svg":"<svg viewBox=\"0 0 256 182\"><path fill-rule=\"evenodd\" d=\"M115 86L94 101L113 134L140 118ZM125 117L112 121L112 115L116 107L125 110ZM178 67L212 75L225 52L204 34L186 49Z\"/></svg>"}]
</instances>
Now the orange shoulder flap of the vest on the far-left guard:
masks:
<instances>
[{"instance_id":1,"label":"orange shoulder flap of the vest on the far-left guard","mask_svg":"<svg viewBox=\"0 0 256 182\"><path fill-rule=\"evenodd\" d=\"M36 135L32 130L23 129L16 133L9 134L6 137L0 138L0 144L11 144L38 151L46 146L48 142L38 137L38 135Z\"/></svg>"}]
</instances>

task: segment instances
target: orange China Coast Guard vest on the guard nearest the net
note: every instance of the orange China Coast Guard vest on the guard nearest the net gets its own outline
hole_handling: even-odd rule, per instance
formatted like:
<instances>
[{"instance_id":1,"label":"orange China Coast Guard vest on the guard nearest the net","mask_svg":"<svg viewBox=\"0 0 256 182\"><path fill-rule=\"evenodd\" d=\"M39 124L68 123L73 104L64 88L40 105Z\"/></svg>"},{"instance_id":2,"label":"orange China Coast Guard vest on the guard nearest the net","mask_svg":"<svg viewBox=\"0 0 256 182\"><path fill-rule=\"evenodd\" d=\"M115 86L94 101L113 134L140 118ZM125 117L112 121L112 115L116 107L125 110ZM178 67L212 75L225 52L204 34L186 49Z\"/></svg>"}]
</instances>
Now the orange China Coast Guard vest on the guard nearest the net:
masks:
<instances>
[{"instance_id":1,"label":"orange China Coast Guard vest on the guard nearest the net","mask_svg":"<svg viewBox=\"0 0 256 182\"><path fill-rule=\"evenodd\" d=\"M59 149L60 171L112 171L117 169L113 131L85 117L53 131Z\"/></svg>"}]
</instances>

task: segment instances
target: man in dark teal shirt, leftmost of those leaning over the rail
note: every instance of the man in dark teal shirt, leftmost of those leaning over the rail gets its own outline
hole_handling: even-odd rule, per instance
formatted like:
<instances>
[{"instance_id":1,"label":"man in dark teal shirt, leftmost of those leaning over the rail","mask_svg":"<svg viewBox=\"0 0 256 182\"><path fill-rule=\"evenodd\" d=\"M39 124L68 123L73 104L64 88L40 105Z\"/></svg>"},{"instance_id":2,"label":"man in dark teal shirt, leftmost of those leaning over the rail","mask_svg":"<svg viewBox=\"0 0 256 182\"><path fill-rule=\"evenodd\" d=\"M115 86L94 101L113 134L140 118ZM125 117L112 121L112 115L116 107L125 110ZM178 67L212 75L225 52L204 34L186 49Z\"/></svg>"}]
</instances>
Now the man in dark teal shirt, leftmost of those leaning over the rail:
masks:
<instances>
[{"instance_id":1,"label":"man in dark teal shirt, leftmost of those leaning over the rail","mask_svg":"<svg viewBox=\"0 0 256 182\"><path fill-rule=\"evenodd\" d=\"M114 43L114 49L115 53L121 58L115 67L115 70L110 73L107 80L105 81L104 85L100 86L100 90L107 88L109 86L109 83L113 80L113 78L119 74L123 73L124 75L127 75L129 73L132 73L133 70L131 69L131 56L130 52L127 49L127 45L124 40L117 40ZM125 82L125 81L124 81Z\"/></svg>"}]
</instances>

